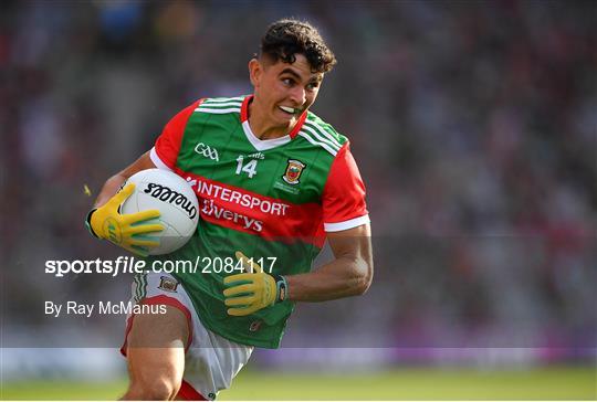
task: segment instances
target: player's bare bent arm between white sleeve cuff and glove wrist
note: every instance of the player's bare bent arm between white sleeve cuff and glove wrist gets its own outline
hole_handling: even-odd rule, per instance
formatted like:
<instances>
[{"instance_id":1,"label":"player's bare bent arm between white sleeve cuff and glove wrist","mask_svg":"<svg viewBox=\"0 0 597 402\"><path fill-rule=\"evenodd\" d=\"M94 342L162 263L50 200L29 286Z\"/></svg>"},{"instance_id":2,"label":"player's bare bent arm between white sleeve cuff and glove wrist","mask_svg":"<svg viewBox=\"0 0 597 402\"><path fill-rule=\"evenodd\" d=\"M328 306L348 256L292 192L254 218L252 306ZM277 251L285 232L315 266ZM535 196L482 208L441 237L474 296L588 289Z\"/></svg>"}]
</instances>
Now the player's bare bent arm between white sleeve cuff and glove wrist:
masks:
<instances>
[{"instance_id":1,"label":"player's bare bent arm between white sleeve cuff and glove wrist","mask_svg":"<svg viewBox=\"0 0 597 402\"><path fill-rule=\"evenodd\" d=\"M335 260L318 269L286 276L293 302L325 302L362 295L373 279L370 225L327 233Z\"/></svg>"}]
</instances>

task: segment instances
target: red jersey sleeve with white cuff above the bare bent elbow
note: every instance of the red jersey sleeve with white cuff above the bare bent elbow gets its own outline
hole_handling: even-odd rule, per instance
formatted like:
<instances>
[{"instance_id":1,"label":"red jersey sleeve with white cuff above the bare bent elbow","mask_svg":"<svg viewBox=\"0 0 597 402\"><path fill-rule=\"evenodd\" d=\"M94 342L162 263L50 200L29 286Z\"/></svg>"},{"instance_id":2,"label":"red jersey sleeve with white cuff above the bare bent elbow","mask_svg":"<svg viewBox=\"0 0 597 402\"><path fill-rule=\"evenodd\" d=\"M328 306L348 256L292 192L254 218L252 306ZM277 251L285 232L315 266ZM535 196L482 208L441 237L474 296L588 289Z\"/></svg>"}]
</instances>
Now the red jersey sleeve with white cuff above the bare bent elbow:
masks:
<instances>
[{"instance_id":1,"label":"red jersey sleeve with white cuff above the bare bent elbow","mask_svg":"<svg viewBox=\"0 0 597 402\"><path fill-rule=\"evenodd\" d=\"M323 192L326 232L338 232L369 223L365 184L346 142L334 159Z\"/></svg>"}]
</instances>

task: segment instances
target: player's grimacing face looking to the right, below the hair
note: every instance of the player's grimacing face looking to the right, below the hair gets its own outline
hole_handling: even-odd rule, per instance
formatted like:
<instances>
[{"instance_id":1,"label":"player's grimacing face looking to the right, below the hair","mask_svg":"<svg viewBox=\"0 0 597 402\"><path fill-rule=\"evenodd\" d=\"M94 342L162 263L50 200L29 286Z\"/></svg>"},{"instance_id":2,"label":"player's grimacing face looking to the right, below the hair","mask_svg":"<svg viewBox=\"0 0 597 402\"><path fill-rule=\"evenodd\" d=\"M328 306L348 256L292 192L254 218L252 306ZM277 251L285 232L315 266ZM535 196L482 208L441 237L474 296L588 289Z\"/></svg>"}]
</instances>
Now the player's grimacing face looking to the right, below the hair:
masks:
<instances>
[{"instance_id":1,"label":"player's grimacing face looking to the right, below the hair","mask_svg":"<svg viewBox=\"0 0 597 402\"><path fill-rule=\"evenodd\" d=\"M302 54L294 63L253 60L251 82L255 87L255 105L272 126L290 128L315 102L323 73L312 73Z\"/></svg>"}]
</instances>

